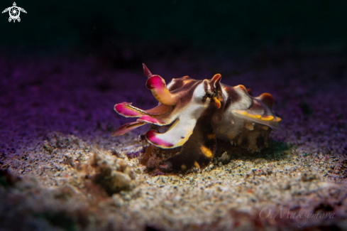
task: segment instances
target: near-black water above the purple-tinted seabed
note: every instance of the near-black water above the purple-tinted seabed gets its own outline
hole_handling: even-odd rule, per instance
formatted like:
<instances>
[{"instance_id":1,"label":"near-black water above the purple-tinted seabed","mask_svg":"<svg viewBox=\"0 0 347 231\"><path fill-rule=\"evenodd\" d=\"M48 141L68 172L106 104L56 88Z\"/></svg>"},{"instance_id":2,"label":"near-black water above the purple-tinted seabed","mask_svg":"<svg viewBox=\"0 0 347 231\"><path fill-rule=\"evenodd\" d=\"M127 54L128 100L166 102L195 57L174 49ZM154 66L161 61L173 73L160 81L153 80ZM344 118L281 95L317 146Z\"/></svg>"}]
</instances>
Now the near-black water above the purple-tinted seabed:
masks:
<instances>
[{"instance_id":1,"label":"near-black water above the purple-tinted seabed","mask_svg":"<svg viewBox=\"0 0 347 231\"><path fill-rule=\"evenodd\" d=\"M1 11L12 4L13 0L1 1ZM129 63L134 58L194 52L240 57L269 48L286 53L346 53L347 1L53 0L16 4L28 14L21 13L20 23L9 23L8 13L0 15L0 51L6 55L77 53Z\"/></svg>"}]
</instances>

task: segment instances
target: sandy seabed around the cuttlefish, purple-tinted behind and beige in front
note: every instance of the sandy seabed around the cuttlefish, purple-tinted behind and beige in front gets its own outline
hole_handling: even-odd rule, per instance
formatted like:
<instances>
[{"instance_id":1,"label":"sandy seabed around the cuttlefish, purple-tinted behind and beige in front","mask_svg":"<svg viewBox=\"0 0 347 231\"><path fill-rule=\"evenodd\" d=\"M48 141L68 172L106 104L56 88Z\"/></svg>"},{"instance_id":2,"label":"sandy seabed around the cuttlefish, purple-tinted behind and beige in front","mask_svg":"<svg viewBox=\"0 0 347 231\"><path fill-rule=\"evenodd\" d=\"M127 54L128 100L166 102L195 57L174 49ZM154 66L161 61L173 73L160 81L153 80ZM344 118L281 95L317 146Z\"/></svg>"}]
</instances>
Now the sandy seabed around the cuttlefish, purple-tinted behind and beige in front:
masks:
<instances>
[{"instance_id":1,"label":"sandy seabed around the cuttlefish, purple-tinted behind and beige in front","mask_svg":"<svg viewBox=\"0 0 347 231\"><path fill-rule=\"evenodd\" d=\"M143 60L167 82L184 75L211 79L220 72L228 85L245 85L253 95L269 92L272 109L282 118L284 134L270 135L270 149L229 150L204 170L166 175L150 168L165 153L140 164L138 134L148 128L111 137L116 127L130 122L114 112L115 102L141 109L157 104L143 87L141 63L119 70L92 57L0 57L0 227L346 229L343 58L302 55L268 61L262 68L250 68L259 67L256 61ZM248 72L236 75L233 69ZM278 211L285 217L268 215ZM304 219L299 213L329 215Z\"/></svg>"}]
</instances>

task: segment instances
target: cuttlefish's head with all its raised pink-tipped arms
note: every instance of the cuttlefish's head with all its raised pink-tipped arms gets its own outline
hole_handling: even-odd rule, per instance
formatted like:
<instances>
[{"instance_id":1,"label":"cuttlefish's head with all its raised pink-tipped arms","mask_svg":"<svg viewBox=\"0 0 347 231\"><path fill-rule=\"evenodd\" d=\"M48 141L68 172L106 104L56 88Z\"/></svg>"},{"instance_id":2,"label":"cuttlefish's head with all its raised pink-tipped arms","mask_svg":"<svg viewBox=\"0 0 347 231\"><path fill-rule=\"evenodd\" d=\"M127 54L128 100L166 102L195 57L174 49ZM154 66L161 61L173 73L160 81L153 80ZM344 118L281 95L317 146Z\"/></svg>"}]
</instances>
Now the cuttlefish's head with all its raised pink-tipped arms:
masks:
<instances>
[{"instance_id":1,"label":"cuttlefish's head with all its raised pink-tipped arms","mask_svg":"<svg viewBox=\"0 0 347 231\"><path fill-rule=\"evenodd\" d=\"M153 75L143 64L143 72L148 77L146 87L159 101L158 107L143 110L131 103L116 104L114 109L125 117L138 117L136 122L124 124L112 133L113 136L125 134L144 124L170 127L164 133L147 131L145 138L150 144L163 149L182 146L193 133L199 117L213 114L221 107L221 75L211 80L193 80L188 76L173 79L168 85L160 75ZM206 119L211 123L211 118Z\"/></svg>"}]
</instances>

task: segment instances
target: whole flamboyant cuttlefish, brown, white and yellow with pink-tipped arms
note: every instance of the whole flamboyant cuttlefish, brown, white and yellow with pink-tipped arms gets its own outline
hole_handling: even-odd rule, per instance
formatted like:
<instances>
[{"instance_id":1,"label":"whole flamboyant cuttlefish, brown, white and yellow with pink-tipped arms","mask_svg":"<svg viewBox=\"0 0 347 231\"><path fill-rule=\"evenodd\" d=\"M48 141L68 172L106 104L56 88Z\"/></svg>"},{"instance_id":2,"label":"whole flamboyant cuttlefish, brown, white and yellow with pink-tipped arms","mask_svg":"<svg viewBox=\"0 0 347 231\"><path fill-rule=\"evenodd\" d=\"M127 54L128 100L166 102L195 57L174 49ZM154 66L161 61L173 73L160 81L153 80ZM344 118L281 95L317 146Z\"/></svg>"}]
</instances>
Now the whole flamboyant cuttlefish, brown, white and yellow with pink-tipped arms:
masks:
<instances>
[{"instance_id":1,"label":"whole flamboyant cuttlefish, brown, white and yellow with pink-tipped arms","mask_svg":"<svg viewBox=\"0 0 347 231\"><path fill-rule=\"evenodd\" d=\"M143 70L148 77L146 87L159 104L148 110L128 102L116 104L117 113L139 118L123 124L112 136L152 124L143 136L148 143L161 149L182 146L178 154L167 159L167 168L206 167L214 157L216 138L259 151L260 147L268 146L272 129L280 128L281 119L272 112L273 97L268 93L253 97L243 85L222 84L220 74L211 80L184 76L166 85L163 77L153 75L144 64ZM160 132L160 127L169 128Z\"/></svg>"}]
</instances>

